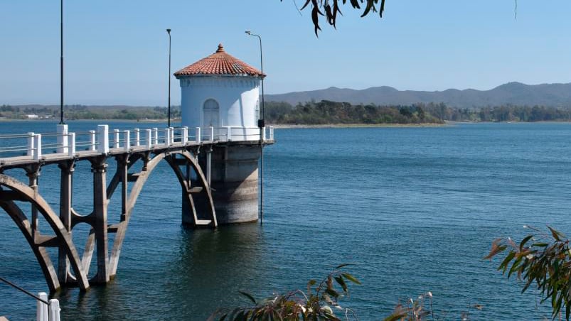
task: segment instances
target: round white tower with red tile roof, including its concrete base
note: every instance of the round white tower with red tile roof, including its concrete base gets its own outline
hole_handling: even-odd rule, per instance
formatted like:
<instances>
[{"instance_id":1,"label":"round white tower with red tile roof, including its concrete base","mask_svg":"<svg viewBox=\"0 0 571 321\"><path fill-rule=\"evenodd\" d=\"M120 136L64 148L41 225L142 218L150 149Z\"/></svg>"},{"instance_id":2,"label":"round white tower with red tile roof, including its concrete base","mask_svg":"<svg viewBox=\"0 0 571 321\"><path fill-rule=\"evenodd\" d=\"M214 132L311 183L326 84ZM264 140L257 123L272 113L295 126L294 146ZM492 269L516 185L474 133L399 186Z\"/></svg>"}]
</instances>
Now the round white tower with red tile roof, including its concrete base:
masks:
<instances>
[{"instance_id":1,"label":"round white tower with red tile roof, including its concrete base","mask_svg":"<svg viewBox=\"0 0 571 321\"><path fill-rule=\"evenodd\" d=\"M205 164L211 153L212 187L219 224L256 222L258 219L258 160L262 145L260 80L265 75L224 51L222 44L208 57L174 73L181 82L182 126L214 127L212 151L201 151ZM230 133L230 141L228 141ZM206 138L210 139L210 138ZM200 208L202 205L195 201ZM183 203L183 217L188 214Z\"/></svg>"}]
</instances>

